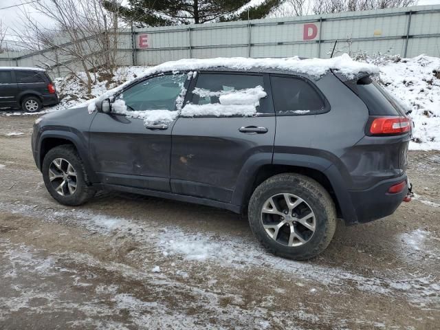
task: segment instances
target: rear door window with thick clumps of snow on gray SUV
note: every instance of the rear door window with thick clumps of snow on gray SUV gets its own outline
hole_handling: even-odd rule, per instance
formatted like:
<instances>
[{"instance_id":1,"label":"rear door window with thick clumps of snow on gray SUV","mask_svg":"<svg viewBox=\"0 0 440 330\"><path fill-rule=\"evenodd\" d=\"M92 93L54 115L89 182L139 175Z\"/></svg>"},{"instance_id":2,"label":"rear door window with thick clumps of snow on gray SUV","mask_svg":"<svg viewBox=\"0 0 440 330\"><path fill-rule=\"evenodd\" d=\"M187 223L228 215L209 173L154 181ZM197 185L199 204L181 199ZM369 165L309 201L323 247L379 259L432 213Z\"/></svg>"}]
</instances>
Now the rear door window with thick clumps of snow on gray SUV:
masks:
<instances>
[{"instance_id":1,"label":"rear door window with thick clumps of snow on gray SUV","mask_svg":"<svg viewBox=\"0 0 440 330\"><path fill-rule=\"evenodd\" d=\"M214 115L250 116L267 109L263 76L258 74L201 73L192 90L184 117Z\"/></svg>"}]
</instances>

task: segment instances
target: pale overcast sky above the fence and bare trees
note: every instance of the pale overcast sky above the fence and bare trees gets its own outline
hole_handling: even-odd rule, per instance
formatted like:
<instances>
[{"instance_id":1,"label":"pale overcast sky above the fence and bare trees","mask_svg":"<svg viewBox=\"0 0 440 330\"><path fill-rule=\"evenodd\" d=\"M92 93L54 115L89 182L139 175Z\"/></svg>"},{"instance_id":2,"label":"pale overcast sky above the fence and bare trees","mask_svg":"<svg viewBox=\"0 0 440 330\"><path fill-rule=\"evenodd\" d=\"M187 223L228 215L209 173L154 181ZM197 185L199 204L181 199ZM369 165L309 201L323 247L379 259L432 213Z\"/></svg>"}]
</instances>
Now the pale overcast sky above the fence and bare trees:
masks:
<instances>
[{"instance_id":1,"label":"pale overcast sky above the fence and bare trees","mask_svg":"<svg viewBox=\"0 0 440 330\"><path fill-rule=\"evenodd\" d=\"M10 5L17 5L20 3L29 2L31 0L0 0L0 19L3 22L3 25L6 25L9 30L8 34L14 34L12 29L15 30L22 30L19 23L19 15L21 10L25 9L30 11L31 14L33 14L34 19L43 21L43 17L39 14L36 14L35 12L32 12L31 5L21 5L19 7L14 8L8 8L8 9L1 9L4 7L8 7ZM419 5L434 5L434 4L440 4L440 0L419 0ZM47 22L48 25L50 25L50 22ZM14 39L13 35L9 35L7 39Z\"/></svg>"}]
</instances>

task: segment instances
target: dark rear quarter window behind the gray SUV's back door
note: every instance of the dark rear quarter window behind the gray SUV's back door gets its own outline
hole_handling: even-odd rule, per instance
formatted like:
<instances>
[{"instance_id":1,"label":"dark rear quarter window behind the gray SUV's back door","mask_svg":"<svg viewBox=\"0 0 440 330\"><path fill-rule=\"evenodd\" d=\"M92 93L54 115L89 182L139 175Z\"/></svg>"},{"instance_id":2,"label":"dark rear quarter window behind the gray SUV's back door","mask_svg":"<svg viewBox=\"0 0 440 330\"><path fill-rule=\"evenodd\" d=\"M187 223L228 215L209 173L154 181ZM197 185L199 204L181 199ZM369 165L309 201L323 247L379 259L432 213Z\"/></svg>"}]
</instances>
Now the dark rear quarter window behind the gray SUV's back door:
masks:
<instances>
[{"instance_id":1,"label":"dark rear quarter window behind the gray SUV's back door","mask_svg":"<svg viewBox=\"0 0 440 330\"><path fill-rule=\"evenodd\" d=\"M305 80L272 76L271 82L276 113L310 115L325 112L325 101Z\"/></svg>"}]
</instances>

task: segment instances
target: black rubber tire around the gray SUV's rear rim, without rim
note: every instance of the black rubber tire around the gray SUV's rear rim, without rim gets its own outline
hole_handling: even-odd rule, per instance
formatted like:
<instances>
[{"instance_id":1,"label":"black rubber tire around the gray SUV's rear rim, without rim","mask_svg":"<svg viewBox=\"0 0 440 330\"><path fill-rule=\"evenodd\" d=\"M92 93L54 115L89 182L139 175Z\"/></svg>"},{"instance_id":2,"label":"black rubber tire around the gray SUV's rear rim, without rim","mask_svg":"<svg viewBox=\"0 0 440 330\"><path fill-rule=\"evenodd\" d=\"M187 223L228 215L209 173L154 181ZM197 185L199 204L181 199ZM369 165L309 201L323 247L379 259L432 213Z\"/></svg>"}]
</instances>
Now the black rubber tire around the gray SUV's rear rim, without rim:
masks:
<instances>
[{"instance_id":1,"label":"black rubber tire around the gray SUV's rear rim, without rim","mask_svg":"<svg viewBox=\"0 0 440 330\"><path fill-rule=\"evenodd\" d=\"M302 245L284 245L272 239L270 234L268 234L263 227L263 216L267 217L266 214L262 214L263 206L268 205L267 200L270 199L270 197L283 193L300 197L300 199L305 201L305 203L300 204L300 208L305 209L309 207L311 212L314 212L314 232L313 234L309 234L309 240L306 241L306 243L301 243ZM295 210L297 209L294 208L293 210L293 214L295 214ZM327 190L314 179L294 173L274 175L266 181L263 181L263 183L254 190L250 198L248 214L250 228L261 244L273 254L288 259L306 260L317 256L327 248L336 230L336 209ZM278 215L272 216L272 214L269 216L280 217ZM296 217L299 216L296 215ZM280 217L279 219L287 218ZM293 218L289 218L290 221L292 221L292 219ZM292 223L298 222L292 221ZM292 230L290 230L289 223L285 223L284 226L287 227L283 229L286 233L281 232L281 229L279 232L286 236L287 231L291 232ZM298 226L300 229L303 228L301 224L298 224ZM304 230L307 232L306 228ZM309 230L309 232L311 231Z\"/></svg>"}]
</instances>

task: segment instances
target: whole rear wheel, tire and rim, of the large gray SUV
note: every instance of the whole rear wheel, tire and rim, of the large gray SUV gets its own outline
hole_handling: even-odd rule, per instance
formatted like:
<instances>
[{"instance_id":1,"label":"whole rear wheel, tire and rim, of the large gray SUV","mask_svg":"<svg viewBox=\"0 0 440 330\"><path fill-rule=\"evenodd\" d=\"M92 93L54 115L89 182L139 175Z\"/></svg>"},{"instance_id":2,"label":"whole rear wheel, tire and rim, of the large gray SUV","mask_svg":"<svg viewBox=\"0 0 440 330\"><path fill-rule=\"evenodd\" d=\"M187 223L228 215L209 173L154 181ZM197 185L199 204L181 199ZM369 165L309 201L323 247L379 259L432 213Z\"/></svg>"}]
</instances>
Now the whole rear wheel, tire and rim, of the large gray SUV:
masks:
<instances>
[{"instance_id":1,"label":"whole rear wheel, tire and rim, of the large gray SUV","mask_svg":"<svg viewBox=\"0 0 440 330\"><path fill-rule=\"evenodd\" d=\"M258 186L249 203L252 232L270 252L310 259L329 245L336 210L325 188L304 175L274 175Z\"/></svg>"}]
</instances>

